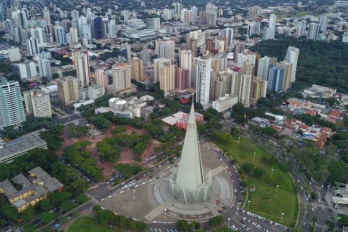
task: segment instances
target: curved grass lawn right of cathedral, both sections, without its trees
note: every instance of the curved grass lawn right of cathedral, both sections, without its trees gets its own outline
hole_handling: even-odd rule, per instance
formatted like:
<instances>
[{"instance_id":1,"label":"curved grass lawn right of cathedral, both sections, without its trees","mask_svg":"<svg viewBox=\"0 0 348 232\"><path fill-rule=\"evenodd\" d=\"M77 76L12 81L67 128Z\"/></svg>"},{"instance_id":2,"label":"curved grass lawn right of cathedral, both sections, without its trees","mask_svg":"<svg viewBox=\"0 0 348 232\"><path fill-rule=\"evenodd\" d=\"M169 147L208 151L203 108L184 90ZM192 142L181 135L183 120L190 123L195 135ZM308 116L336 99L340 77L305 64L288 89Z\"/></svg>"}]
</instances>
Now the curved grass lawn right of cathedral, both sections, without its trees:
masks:
<instances>
[{"instance_id":1,"label":"curved grass lawn right of cathedral, both sections, without its trees","mask_svg":"<svg viewBox=\"0 0 348 232\"><path fill-rule=\"evenodd\" d=\"M280 212L282 211L284 212L282 224L294 227L299 207L294 183L287 172L279 169L278 163L269 165L262 160L262 157L270 157L271 154L244 137L240 138L239 145L238 137L224 144L216 142L216 145L233 158L241 168L244 163L252 163L255 168L262 167L267 171L266 175L261 178L248 177L248 184L256 186L256 192L249 194L249 211L276 222L280 222ZM256 152L255 161L254 152ZM272 169L274 170L271 178ZM277 185L279 185L278 194L275 195ZM247 204L245 208L247 208Z\"/></svg>"}]
</instances>

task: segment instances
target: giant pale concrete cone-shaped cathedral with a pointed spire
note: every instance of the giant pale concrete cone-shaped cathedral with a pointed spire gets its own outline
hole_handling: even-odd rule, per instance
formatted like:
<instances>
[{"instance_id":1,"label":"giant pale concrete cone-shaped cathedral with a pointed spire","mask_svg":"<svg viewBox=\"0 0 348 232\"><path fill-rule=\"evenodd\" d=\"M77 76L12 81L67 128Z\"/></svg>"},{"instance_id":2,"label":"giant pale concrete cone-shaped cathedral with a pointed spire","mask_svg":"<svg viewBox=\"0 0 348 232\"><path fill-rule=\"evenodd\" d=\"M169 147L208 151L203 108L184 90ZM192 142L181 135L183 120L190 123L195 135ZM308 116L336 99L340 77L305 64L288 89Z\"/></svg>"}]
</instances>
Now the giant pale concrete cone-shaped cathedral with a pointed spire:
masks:
<instances>
[{"instance_id":1,"label":"giant pale concrete cone-shaped cathedral with a pointed spire","mask_svg":"<svg viewBox=\"0 0 348 232\"><path fill-rule=\"evenodd\" d=\"M181 203L205 201L211 192L211 171L204 173L196 125L194 103L188 119L181 161L173 167L169 178L169 192Z\"/></svg>"}]
</instances>

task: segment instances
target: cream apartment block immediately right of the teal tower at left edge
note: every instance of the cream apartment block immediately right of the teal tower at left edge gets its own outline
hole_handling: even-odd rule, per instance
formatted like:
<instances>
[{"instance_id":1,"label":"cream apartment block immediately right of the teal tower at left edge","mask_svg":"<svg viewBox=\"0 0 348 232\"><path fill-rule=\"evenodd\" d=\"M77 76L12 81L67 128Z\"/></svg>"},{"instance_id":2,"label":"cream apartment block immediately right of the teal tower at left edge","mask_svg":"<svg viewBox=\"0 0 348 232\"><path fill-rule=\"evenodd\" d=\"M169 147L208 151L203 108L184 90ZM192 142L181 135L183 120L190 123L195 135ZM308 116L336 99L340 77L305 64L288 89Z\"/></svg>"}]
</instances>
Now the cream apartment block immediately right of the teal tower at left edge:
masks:
<instances>
[{"instance_id":1,"label":"cream apartment block immediately right of the teal tower at left edge","mask_svg":"<svg viewBox=\"0 0 348 232\"><path fill-rule=\"evenodd\" d=\"M51 118L51 102L49 94L38 90L30 90L23 92L25 108L28 114L33 114L34 117Z\"/></svg>"}]
</instances>

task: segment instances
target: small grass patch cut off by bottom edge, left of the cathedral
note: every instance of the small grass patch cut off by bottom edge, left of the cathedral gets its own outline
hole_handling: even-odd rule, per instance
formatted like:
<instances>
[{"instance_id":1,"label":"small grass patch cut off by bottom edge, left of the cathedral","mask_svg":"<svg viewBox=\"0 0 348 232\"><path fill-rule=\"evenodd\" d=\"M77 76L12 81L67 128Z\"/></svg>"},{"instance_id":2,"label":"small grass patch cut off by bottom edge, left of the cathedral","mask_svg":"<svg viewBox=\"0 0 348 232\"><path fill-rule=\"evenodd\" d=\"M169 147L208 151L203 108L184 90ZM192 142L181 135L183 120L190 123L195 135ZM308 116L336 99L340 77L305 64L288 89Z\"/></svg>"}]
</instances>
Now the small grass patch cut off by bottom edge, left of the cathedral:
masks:
<instances>
[{"instance_id":1,"label":"small grass patch cut off by bottom edge, left of the cathedral","mask_svg":"<svg viewBox=\"0 0 348 232\"><path fill-rule=\"evenodd\" d=\"M93 218L84 216L76 220L69 227L69 232L114 232L114 231L126 231L119 228L110 229L109 226L96 223Z\"/></svg>"}]
</instances>

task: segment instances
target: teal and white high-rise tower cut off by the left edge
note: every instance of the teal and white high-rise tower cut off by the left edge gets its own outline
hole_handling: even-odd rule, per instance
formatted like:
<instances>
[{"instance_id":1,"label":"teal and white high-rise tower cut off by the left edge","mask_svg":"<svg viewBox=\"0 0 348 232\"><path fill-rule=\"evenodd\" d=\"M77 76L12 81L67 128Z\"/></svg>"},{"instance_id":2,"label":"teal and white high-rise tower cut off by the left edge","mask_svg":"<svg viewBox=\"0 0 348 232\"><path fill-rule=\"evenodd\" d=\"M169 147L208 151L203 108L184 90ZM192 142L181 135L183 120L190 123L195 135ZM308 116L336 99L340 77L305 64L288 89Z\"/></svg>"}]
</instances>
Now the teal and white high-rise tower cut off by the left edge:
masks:
<instances>
[{"instance_id":1,"label":"teal and white high-rise tower cut off by the left edge","mask_svg":"<svg viewBox=\"0 0 348 232\"><path fill-rule=\"evenodd\" d=\"M20 83L0 79L0 122L5 126L19 126L25 121Z\"/></svg>"}]
</instances>

